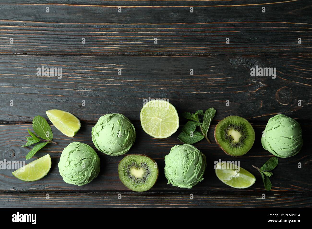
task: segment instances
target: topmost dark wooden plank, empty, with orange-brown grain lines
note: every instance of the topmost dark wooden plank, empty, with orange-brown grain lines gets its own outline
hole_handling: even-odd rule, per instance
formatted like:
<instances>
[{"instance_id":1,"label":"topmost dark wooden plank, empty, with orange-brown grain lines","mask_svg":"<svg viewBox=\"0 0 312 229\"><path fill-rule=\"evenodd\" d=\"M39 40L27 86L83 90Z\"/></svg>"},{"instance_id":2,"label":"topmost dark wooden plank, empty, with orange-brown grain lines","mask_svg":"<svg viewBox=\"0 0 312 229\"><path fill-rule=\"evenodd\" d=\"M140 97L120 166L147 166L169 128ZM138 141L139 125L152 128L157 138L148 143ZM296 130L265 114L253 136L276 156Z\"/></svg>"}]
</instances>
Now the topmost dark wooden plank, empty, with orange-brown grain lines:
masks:
<instances>
[{"instance_id":1,"label":"topmost dark wooden plank, empty, with orange-brown grain lines","mask_svg":"<svg viewBox=\"0 0 312 229\"><path fill-rule=\"evenodd\" d=\"M118 7L122 13L118 13ZM190 13L190 7L194 13ZM46 13L46 7L50 12ZM266 7L266 13L262 13ZM309 0L4 1L2 54L311 53ZM92 16L90 16L92 15ZM10 38L14 44L10 44ZM82 38L86 43L82 44ZM154 38L158 44L154 44ZM230 38L230 44L226 44ZM302 44L298 44L298 38Z\"/></svg>"}]
</instances>

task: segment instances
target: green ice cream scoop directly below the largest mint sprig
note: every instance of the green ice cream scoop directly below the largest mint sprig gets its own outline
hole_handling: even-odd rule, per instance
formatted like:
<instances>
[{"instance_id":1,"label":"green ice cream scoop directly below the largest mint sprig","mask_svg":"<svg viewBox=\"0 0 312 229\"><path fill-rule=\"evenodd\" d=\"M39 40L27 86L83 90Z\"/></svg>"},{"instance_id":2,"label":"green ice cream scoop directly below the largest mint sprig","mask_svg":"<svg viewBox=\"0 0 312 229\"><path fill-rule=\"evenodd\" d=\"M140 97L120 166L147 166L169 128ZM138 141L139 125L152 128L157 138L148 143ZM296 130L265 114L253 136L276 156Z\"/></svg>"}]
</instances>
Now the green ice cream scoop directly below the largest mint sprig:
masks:
<instances>
[{"instance_id":1,"label":"green ice cream scoop directly below the largest mint sprig","mask_svg":"<svg viewBox=\"0 0 312 229\"><path fill-rule=\"evenodd\" d=\"M202 181L206 166L205 155L192 145L173 146L165 156L168 184L180 188L192 188Z\"/></svg>"}]
</instances>

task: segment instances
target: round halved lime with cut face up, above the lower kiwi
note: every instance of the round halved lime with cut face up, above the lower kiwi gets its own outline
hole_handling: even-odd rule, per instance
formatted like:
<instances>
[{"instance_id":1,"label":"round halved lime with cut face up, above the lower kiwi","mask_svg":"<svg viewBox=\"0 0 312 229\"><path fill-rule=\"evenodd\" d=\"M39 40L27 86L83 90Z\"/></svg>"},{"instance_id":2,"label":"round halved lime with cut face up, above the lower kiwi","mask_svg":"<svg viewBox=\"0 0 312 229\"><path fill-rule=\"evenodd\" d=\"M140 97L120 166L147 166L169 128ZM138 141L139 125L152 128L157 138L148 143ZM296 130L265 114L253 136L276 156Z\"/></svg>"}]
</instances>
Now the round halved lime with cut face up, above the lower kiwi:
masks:
<instances>
[{"instance_id":1,"label":"round halved lime with cut face up, above the lower kiwi","mask_svg":"<svg viewBox=\"0 0 312 229\"><path fill-rule=\"evenodd\" d=\"M164 100L151 100L140 113L145 133L155 138L167 138L179 127L179 116L173 105Z\"/></svg>"}]
</instances>

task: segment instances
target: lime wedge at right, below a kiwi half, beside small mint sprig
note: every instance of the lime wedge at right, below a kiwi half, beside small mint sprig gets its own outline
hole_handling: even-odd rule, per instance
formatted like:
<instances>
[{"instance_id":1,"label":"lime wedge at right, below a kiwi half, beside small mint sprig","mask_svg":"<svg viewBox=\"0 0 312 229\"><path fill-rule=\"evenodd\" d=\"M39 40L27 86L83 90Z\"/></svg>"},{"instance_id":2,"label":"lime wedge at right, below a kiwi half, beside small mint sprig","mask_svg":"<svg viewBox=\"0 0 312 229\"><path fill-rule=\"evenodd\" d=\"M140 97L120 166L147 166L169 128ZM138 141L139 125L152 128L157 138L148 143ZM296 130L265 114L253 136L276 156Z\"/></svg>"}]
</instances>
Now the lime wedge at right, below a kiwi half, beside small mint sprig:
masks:
<instances>
[{"instance_id":1,"label":"lime wedge at right, below a kiwi half, beside small mint sprig","mask_svg":"<svg viewBox=\"0 0 312 229\"><path fill-rule=\"evenodd\" d=\"M216 165L217 177L232 188L249 188L256 181L254 175L239 166L234 167L232 163L222 162Z\"/></svg>"}]
</instances>

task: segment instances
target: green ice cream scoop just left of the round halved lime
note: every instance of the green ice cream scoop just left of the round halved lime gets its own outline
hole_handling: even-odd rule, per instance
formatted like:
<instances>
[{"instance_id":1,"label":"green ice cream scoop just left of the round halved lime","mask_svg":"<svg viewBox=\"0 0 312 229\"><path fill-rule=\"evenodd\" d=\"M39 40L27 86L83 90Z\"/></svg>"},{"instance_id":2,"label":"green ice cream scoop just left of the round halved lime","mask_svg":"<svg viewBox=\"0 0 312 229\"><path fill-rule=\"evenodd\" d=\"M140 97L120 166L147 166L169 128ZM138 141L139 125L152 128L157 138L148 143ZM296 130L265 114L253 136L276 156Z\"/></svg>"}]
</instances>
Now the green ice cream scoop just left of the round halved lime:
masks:
<instances>
[{"instance_id":1,"label":"green ice cream scoop just left of the round halved lime","mask_svg":"<svg viewBox=\"0 0 312 229\"><path fill-rule=\"evenodd\" d=\"M106 114L92 128L92 141L101 152L119 156L127 153L135 141L135 129L122 114Z\"/></svg>"}]
</instances>

